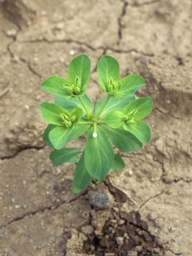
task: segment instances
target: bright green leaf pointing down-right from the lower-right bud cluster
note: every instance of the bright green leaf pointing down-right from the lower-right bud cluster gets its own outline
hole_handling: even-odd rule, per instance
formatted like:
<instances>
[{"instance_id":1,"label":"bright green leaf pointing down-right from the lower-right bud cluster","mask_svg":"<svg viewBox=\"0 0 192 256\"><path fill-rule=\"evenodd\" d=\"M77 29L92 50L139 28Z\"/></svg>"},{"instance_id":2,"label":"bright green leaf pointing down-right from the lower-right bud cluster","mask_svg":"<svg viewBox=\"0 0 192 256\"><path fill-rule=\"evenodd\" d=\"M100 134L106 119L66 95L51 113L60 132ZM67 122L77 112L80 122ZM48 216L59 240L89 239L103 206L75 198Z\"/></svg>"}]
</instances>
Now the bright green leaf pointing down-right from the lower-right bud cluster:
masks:
<instances>
[{"instance_id":1,"label":"bright green leaf pointing down-right from the lower-right bud cluster","mask_svg":"<svg viewBox=\"0 0 192 256\"><path fill-rule=\"evenodd\" d=\"M151 134L150 134L150 127L142 122L142 121L136 121L137 124L124 124L123 128L126 131L131 132L135 135L135 137L138 138L142 143L147 143L150 141Z\"/></svg>"}]
</instances>

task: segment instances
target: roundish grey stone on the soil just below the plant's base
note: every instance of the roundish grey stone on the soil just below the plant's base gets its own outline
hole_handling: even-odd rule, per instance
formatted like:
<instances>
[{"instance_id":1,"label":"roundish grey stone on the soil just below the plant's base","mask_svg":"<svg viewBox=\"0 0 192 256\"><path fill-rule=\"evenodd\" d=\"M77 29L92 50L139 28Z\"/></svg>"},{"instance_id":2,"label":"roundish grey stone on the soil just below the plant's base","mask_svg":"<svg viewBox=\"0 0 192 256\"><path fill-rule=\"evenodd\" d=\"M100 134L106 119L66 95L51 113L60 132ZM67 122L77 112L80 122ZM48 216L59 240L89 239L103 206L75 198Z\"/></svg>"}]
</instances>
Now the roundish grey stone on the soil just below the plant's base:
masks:
<instances>
[{"instance_id":1,"label":"roundish grey stone on the soil just below the plant's base","mask_svg":"<svg viewBox=\"0 0 192 256\"><path fill-rule=\"evenodd\" d=\"M114 199L107 189L100 188L89 196L89 202L97 209L109 209Z\"/></svg>"}]
</instances>

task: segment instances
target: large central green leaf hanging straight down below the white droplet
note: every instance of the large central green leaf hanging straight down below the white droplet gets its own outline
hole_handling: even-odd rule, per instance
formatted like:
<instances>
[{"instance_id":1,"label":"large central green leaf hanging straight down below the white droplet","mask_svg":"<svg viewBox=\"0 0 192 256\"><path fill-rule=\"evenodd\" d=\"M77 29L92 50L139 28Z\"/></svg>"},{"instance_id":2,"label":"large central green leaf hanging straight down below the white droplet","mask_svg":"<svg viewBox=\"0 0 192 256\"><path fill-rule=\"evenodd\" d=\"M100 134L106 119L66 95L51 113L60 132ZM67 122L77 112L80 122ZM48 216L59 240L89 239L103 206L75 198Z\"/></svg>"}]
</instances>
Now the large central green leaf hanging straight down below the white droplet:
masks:
<instances>
[{"instance_id":1,"label":"large central green leaf hanging straight down below the white droplet","mask_svg":"<svg viewBox=\"0 0 192 256\"><path fill-rule=\"evenodd\" d=\"M93 129L87 132L85 147L85 166L89 174L99 180L105 180L113 164L114 153L105 133L97 129L97 137L93 137Z\"/></svg>"}]
</instances>

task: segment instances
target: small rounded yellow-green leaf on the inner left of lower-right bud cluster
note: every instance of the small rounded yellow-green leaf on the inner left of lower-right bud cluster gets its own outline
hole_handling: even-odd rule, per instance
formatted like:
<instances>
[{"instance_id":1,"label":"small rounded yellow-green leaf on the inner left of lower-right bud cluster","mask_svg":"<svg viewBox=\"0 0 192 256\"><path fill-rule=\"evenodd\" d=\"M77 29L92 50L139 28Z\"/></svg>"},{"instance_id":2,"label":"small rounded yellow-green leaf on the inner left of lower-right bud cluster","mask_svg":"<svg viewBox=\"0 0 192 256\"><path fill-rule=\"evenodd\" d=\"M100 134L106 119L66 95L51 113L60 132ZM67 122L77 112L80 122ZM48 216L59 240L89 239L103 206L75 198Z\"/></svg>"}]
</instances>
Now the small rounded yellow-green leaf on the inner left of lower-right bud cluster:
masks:
<instances>
[{"instance_id":1,"label":"small rounded yellow-green leaf on the inner left of lower-right bud cluster","mask_svg":"<svg viewBox=\"0 0 192 256\"><path fill-rule=\"evenodd\" d=\"M105 121L111 128L119 128L125 123L123 117L124 114L121 111L112 110L107 114Z\"/></svg>"}]
</instances>

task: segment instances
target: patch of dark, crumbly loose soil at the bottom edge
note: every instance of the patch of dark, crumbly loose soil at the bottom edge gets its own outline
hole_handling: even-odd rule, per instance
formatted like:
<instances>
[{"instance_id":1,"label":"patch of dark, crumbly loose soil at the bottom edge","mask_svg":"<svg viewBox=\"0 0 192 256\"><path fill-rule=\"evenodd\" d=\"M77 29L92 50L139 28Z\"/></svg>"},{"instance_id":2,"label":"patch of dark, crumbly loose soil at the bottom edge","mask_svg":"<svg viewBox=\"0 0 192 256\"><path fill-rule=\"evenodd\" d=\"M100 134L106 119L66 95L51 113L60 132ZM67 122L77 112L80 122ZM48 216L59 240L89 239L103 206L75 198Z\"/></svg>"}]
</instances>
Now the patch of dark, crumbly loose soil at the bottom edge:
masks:
<instances>
[{"instance_id":1,"label":"patch of dark, crumbly loose soil at the bottom edge","mask_svg":"<svg viewBox=\"0 0 192 256\"><path fill-rule=\"evenodd\" d=\"M95 219L95 215L92 215L92 218ZM133 223L133 218L137 219L137 223ZM111 210L110 218L103 223L102 215L97 214L98 222L103 224L102 230L97 233L100 226L95 226L94 235L87 235L84 251L91 255L91 246L94 246L96 256L107 255L106 253L114 253L118 256L152 256L157 255L156 252L163 255L162 246L158 244L154 236L143 229L137 213L130 213L129 217L123 219L124 223L119 225L121 219L119 213Z\"/></svg>"}]
</instances>

